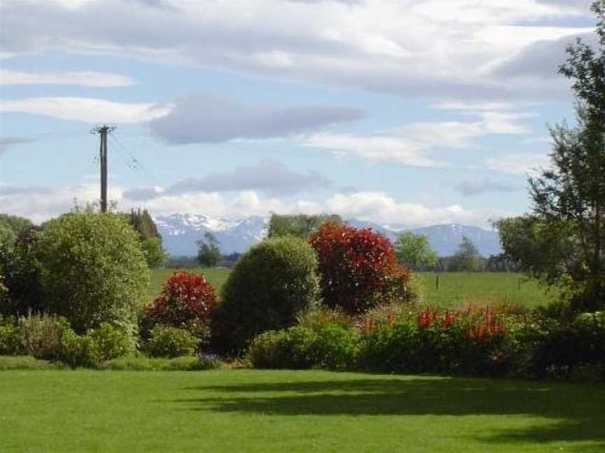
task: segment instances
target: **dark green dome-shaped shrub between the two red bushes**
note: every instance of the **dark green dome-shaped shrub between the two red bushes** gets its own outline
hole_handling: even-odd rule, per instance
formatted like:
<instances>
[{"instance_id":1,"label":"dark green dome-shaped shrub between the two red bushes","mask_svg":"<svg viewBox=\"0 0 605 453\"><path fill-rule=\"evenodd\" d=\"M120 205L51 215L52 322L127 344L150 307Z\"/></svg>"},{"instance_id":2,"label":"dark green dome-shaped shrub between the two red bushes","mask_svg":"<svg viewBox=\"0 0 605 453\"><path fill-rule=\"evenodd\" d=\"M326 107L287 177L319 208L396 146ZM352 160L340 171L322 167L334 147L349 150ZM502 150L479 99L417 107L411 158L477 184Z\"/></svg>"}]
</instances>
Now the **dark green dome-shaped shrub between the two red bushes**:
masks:
<instances>
[{"instance_id":1,"label":"dark green dome-shaped shrub between the two red bushes","mask_svg":"<svg viewBox=\"0 0 605 453\"><path fill-rule=\"evenodd\" d=\"M318 301L317 257L301 238L263 240L237 261L223 287L215 344L242 350L258 333L283 329Z\"/></svg>"}]
</instances>

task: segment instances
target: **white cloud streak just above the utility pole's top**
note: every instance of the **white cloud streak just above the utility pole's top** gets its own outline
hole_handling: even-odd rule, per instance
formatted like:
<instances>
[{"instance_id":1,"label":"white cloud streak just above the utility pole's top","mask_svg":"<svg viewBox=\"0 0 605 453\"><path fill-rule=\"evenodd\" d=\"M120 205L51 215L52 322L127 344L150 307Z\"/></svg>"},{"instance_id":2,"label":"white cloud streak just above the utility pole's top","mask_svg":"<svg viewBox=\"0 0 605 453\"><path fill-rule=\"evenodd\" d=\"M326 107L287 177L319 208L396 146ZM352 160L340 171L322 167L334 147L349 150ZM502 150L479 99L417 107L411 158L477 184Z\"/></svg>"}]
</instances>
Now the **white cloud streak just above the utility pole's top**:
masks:
<instances>
[{"instance_id":1,"label":"white cloud streak just above the utility pole's top","mask_svg":"<svg viewBox=\"0 0 605 453\"><path fill-rule=\"evenodd\" d=\"M36 113L63 120L88 123L132 123L165 115L169 107L157 108L152 103L122 103L81 97L39 97L3 99L0 112Z\"/></svg>"}]
</instances>

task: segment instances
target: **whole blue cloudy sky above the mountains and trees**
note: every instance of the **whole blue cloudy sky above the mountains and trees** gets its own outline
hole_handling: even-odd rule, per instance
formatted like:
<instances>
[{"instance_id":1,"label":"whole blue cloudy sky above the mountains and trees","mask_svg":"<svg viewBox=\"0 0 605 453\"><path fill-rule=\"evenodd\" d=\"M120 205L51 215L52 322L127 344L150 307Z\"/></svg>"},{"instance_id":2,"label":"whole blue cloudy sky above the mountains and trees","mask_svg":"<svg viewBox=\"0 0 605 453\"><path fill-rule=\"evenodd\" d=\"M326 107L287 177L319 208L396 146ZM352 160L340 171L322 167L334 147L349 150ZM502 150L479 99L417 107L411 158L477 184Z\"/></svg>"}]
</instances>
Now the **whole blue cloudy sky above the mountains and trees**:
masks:
<instances>
[{"instance_id":1,"label":"whole blue cloudy sky above the mountains and trees","mask_svg":"<svg viewBox=\"0 0 605 453\"><path fill-rule=\"evenodd\" d=\"M531 210L590 0L4 0L0 212L420 227Z\"/></svg>"}]
</instances>

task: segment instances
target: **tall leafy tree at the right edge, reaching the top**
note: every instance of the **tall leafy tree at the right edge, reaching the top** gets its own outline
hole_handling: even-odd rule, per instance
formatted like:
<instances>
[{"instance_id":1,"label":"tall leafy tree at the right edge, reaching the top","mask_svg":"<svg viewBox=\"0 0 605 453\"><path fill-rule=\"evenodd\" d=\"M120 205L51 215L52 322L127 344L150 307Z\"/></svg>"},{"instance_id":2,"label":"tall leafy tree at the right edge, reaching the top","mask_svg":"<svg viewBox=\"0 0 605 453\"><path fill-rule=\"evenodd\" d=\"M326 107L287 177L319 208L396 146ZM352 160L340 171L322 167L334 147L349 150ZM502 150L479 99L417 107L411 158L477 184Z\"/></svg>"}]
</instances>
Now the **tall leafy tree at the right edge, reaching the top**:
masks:
<instances>
[{"instance_id":1,"label":"tall leafy tree at the right edge, reaching the top","mask_svg":"<svg viewBox=\"0 0 605 453\"><path fill-rule=\"evenodd\" d=\"M577 308L597 310L605 303L605 0L591 9L598 20L597 48L578 38L559 67L573 80L577 122L551 129L552 164L529 179L533 215L508 225L536 240L535 254L503 245L525 269L569 285Z\"/></svg>"}]
</instances>

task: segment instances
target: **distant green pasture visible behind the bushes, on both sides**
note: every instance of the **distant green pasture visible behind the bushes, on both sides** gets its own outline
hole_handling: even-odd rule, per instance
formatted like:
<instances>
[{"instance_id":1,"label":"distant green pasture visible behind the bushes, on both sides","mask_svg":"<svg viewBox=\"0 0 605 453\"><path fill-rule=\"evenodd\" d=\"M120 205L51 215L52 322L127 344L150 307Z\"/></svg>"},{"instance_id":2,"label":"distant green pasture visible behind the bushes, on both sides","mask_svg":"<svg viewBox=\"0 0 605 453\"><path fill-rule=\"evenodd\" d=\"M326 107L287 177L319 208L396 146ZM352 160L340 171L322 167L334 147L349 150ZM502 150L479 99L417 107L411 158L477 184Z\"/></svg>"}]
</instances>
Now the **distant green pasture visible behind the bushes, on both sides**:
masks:
<instances>
[{"instance_id":1,"label":"distant green pasture visible behind the bushes, on both sides","mask_svg":"<svg viewBox=\"0 0 605 453\"><path fill-rule=\"evenodd\" d=\"M221 288L229 275L229 269L190 269L192 272L203 272L216 290ZM162 283L174 272L174 269L153 269L149 298L153 299L162 287ZM430 272L415 273L421 282L423 303L450 307L464 302L518 303L527 308L545 305L555 298L553 292L547 293L545 287L536 280L528 280L517 273L440 273L439 289L436 288L437 275Z\"/></svg>"}]
</instances>

